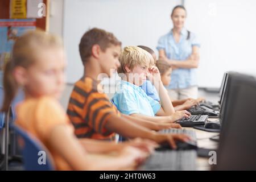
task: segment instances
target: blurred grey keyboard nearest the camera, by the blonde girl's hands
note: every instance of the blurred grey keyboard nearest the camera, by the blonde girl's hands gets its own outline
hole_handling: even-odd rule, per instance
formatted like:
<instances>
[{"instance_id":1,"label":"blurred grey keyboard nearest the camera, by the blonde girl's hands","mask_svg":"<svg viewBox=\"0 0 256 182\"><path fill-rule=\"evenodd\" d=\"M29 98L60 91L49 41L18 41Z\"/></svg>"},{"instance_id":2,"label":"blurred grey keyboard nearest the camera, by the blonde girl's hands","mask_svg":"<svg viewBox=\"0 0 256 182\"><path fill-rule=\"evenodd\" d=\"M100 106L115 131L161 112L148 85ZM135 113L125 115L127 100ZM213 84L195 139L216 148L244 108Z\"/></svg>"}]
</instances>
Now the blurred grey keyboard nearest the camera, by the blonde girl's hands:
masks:
<instances>
[{"instance_id":1,"label":"blurred grey keyboard nearest the camera, by the blonde girl's hands","mask_svg":"<svg viewBox=\"0 0 256 182\"><path fill-rule=\"evenodd\" d=\"M196 170L197 153L187 151L156 151L139 167L139 170L188 171Z\"/></svg>"}]
</instances>

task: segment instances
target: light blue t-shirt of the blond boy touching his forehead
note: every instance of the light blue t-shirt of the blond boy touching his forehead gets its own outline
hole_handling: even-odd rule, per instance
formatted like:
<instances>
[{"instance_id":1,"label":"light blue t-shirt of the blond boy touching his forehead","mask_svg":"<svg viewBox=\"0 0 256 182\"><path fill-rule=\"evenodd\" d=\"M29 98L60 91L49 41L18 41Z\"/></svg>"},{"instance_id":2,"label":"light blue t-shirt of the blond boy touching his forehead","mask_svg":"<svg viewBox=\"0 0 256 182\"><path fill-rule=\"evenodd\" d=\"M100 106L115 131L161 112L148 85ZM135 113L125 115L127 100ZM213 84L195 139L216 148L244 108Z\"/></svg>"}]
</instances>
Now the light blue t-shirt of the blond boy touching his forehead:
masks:
<instances>
[{"instance_id":1,"label":"light blue t-shirt of the blond boy touching his forehead","mask_svg":"<svg viewBox=\"0 0 256 182\"><path fill-rule=\"evenodd\" d=\"M137 85L121 81L117 92L112 98L113 104L123 114L143 114L154 116L160 109L158 101L148 97Z\"/></svg>"}]
</instances>

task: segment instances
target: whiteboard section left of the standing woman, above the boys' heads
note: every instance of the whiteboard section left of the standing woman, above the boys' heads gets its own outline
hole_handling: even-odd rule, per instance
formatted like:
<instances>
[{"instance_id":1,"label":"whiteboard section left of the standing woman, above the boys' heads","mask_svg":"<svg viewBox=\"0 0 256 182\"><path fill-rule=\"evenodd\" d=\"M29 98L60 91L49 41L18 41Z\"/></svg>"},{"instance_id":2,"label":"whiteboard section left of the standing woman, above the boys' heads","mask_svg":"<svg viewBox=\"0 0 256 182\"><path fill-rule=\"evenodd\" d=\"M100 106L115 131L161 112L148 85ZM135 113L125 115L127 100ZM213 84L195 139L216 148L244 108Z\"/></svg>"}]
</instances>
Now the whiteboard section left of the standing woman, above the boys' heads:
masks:
<instances>
[{"instance_id":1,"label":"whiteboard section left of the standing woman, above the boys' heads","mask_svg":"<svg viewBox=\"0 0 256 182\"><path fill-rule=\"evenodd\" d=\"M65 0L63 38L68 59L67 82L81 78L79 42L89 28L113 32L122 47L145 45L157 53L158 39L170 30L171 10L179 3L177 0Z\"/></svg>"}]
</instances>

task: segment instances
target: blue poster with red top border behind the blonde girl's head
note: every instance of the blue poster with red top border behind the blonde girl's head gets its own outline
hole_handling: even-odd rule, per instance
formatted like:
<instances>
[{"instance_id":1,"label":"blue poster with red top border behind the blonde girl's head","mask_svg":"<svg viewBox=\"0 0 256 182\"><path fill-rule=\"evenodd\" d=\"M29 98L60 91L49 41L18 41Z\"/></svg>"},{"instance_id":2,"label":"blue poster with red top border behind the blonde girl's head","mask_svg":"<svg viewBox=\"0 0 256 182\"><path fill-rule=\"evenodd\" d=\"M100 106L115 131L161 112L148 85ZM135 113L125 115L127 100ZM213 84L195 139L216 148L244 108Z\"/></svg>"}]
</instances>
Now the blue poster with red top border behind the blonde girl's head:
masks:
<instances>
[{"instance_id":1,"label":"blue poster with red top border behind the blonde girl's head","mask_svg":"<svg viewBox=\"0 0 256 182\"><path fill-rule=\"evenodd\" d=\"M36 19L0 19L0 85L2 71L11 57L15 40L27 30L36 29Z\"/></svg>"}]
</instances>

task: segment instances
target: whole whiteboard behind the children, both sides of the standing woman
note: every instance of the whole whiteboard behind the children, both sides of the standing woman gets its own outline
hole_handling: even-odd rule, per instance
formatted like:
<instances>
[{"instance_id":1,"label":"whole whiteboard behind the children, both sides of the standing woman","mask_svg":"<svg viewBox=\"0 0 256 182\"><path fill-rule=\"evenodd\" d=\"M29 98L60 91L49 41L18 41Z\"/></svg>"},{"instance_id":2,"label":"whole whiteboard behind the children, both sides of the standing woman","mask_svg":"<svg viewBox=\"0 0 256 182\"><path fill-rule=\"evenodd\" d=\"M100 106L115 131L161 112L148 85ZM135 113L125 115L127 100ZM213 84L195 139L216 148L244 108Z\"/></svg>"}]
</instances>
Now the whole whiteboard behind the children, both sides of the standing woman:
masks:
<instances>
[{"instance_id":1,"label":"whole whiteboard behind the children, both sides of the standing woman","mask_svg":"<svg viewBox=\"0 0 256 182\"><path fill-rule=\"evenodd\" d=\"M256 73L256 1L187 0L185 27L201 43L199 86L218 88L225 71ZM172 28L171 10L181 1L65 0L63 38L67 51L67 81L81 77L81 36L89 28L113 32L124 46L139 44L156 50L160 36Z\"/></svg>"}]
</instances>

